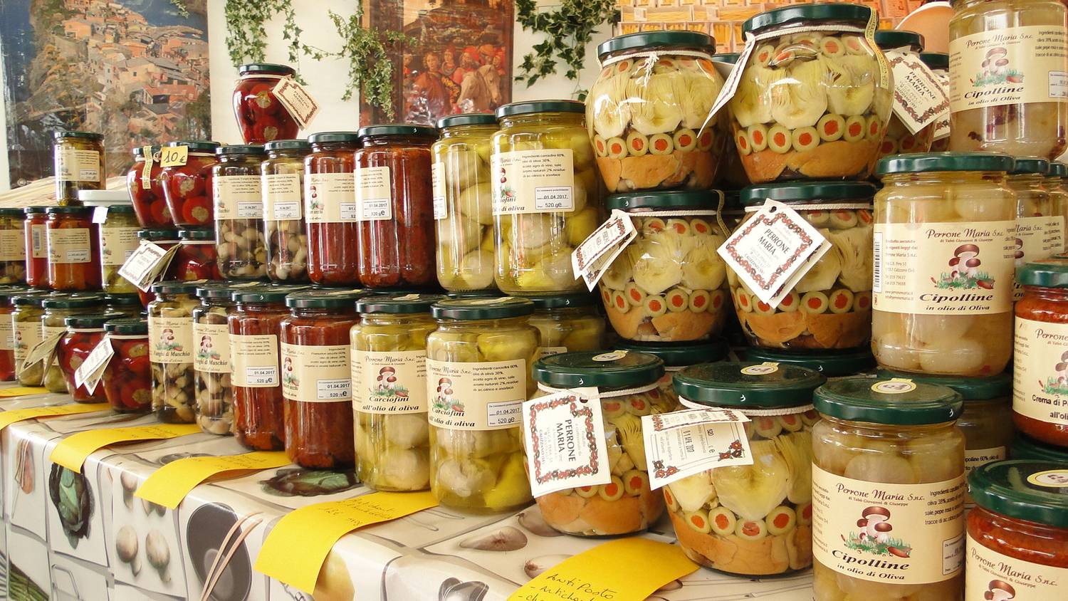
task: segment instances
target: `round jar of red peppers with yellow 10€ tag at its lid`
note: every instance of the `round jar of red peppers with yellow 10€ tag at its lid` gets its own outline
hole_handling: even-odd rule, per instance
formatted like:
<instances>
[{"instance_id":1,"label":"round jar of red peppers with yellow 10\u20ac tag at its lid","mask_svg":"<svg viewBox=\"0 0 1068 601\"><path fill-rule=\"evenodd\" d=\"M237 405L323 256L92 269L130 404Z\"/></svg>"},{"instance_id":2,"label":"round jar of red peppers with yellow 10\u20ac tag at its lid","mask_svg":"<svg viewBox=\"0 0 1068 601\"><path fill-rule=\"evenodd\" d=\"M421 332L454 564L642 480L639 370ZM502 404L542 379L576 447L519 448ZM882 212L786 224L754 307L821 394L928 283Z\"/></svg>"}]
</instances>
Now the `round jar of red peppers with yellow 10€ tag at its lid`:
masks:
<instances>
[{"instance_id":1,"label":"round jar of red peppers with yellow 10\u20ac tag at its lid","mask_svg":"<svg viewBox=\"0 0 1068 601\"><path fill-rule=\"evenodd\" d=\"M219 143L184 140L167 145L189 147L186 164L166 167L160 173L171 218L178 226L209 227L214 219L211 168L219 162L215 156Z\"/></svg>"}]
</instances>

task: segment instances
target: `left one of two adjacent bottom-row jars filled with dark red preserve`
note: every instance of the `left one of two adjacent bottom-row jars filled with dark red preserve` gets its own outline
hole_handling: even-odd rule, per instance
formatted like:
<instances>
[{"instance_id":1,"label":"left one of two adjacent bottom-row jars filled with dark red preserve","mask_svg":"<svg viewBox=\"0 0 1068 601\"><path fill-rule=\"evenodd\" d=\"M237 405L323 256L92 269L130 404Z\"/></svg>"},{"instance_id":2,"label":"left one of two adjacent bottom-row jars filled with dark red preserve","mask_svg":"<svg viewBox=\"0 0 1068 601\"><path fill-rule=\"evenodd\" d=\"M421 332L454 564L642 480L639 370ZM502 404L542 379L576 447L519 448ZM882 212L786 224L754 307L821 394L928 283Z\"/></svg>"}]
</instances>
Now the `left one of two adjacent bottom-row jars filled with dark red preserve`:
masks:
<instances>
[{"instance_id":1,"label":"left one of two adjacent bottom-row jars filled with dark red preserve","mask_svg":"<svg viewBox=\"0 0 1068 601\"><path fill-rule=\"evenodd\" d=\"M285 448L282 378L278 328L289 315L286 295L299 286L258 286L235 290L230 329L231 383L234 391L234 436L255 450Z\"/></svg>"}]
</instances>

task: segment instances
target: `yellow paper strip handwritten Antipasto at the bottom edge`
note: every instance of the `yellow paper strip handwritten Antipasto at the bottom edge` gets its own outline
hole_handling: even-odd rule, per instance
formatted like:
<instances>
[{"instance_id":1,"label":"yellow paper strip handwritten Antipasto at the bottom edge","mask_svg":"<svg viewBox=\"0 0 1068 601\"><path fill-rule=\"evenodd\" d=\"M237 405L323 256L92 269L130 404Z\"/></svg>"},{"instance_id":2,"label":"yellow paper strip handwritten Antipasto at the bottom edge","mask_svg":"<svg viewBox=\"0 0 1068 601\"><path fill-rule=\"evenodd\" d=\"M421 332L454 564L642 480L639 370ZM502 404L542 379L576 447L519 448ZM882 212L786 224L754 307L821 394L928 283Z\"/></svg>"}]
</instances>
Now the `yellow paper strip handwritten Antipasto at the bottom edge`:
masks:
<instances>
[{"instance_id":1,"label":"yellow paper strip handwritten Antipasto at the bottom edge","mask_svg":"<svg viewBox=\"0 0 1068 601\"><path fill-rule=\"evenodd\" d=\"M564 559L520 586L508 601L641 601L696 569L678 545L621 538Z\"/></svg>"}]
</instances>

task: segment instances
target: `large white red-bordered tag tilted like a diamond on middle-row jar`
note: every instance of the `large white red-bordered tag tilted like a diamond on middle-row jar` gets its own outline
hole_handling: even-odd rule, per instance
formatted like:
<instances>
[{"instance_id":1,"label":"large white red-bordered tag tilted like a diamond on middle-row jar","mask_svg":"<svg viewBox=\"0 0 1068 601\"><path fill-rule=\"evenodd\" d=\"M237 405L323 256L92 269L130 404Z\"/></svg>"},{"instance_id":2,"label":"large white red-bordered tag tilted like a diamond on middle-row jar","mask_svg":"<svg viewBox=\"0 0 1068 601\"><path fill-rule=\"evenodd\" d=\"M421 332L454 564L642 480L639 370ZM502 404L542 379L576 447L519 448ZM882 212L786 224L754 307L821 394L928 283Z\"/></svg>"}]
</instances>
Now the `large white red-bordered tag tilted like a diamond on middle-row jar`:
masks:
<instances>
[{"instance_id":1,"label":"large white red-bordered tag tilted like a diamond on middle-row jar","mask_svg":"<svg viewBox=\"0 0 1068 601\"><path fill-rule=\"evenodd\" d=\"M789 294L789 284L830 249L797 211L769 199L717 252L757 298L775 307Z\"/></svg>"}]
</instances>

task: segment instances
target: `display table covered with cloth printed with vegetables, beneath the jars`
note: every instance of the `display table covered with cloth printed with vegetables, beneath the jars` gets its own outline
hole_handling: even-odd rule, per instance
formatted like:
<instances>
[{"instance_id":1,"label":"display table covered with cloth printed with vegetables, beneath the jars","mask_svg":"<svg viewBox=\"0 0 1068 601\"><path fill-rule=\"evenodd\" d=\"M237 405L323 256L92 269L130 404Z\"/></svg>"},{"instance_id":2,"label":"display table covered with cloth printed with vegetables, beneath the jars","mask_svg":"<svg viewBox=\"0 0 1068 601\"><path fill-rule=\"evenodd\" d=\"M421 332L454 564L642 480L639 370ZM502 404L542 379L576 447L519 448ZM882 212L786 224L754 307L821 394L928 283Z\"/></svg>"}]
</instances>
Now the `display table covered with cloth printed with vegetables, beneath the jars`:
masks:
<instances>
[{"instance_id":1,"label":"display table covered with cloth printed with vegetables, beneath the jars","mask_svg":"<svg viewBox=\"0 0 1068 601\"><path fill-rule=\"evenodd\" d=\"M23 396L0 400L0 410L64 402L69 402L66 395ZM151 415L107 411L23 421L3 430L0 554L10 562L0 563L6 570L0 594L11 599L90 601L311 599L252 569L264 538L292 509L348 499L368 489L357 484L350 472L288 465L201 485L176 510L132 495L154 470L175 459L246 452L231 437L203 433L99 450L85 462L83 480L76 476L72 481L69 475L64 479L63 468L48 459L56 444L74 432L154 423ZM62 516L53 496L60 500ZM537 507L523 511L537 511ZM464 516L439 507L368 526L344 536L334 547L328 558L331 583L342 589L350 583L352 599L360 601L504 600L530 580L525 569L552 565L601 542L538 536L519 523L521 513ZM460 544L508 525L527 538L518 551L481 551ZM674 540L666 520L643 536ZM229 562L220 559L215 565L220 555ZM215 586L205 596L205 582L210 581ZM42 594L26 592L33 588ZM673 601L750 598L808 600L811 572L748 580L698 569L653 597ZM342 597L329 601L334 599ZM344 599L348 601L347 596Z\"/></svg>"}]
</instances>

